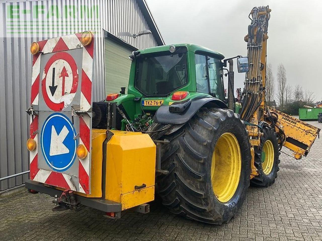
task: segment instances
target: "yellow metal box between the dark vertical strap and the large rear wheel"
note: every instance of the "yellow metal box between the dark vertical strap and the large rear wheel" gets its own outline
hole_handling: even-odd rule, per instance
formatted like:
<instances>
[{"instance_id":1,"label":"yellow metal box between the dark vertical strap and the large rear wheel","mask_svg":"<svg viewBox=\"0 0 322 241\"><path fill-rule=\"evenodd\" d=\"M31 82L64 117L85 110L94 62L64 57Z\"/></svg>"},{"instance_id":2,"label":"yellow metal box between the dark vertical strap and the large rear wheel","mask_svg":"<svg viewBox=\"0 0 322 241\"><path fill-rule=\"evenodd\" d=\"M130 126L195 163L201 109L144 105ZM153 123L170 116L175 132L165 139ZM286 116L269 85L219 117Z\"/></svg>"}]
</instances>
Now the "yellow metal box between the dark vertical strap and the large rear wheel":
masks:
<instances>
[{"instance_id":1,"label":"yellow metal box between the dark vertical strap and the large rear wheel","mask_svg":"<svg viewBox=\"0 0 322 241\"><path fill-rule=\"evenodd\" d=\"M135 186L155 184L156 146L149 135L140 132L112 131L114 135L107 144L106 190L105 197L111 201L122 202L121 195L136 191ZM133 194L134 195L134 194ZM127 198L127 207L138 204ZM154 199L142 197L142 203ZM123 203L122 203L123 205Z\"/></svg>"}]
</instances>

